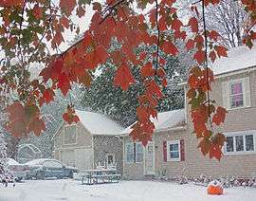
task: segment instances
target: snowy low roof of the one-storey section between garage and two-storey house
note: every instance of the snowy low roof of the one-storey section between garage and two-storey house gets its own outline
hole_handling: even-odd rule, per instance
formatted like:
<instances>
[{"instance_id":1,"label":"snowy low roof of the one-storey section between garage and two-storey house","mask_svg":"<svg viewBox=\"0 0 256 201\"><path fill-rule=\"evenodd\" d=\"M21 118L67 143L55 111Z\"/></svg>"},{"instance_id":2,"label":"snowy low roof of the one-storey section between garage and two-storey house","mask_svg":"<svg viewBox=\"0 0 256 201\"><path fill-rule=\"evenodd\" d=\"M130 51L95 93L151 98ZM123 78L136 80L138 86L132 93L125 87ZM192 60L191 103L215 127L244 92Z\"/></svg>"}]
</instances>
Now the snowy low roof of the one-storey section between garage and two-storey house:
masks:
<instances>
[{"instance_id":1,"label":"snowy low roof of the one-storey section between garage and two-storey house","mask_svg":"<svg viewBox=\"0 0 256 201\"><path fill-rule=\"evenodd\" d=\"M155 131L172 129L184 123L185 120L186 119L184 109L158 113L157 119L152 119L155 124ZM134 124L121 131L120 134L129 134L132 131L131 127L133 125Z\"/></svg>"}]
</instances>

